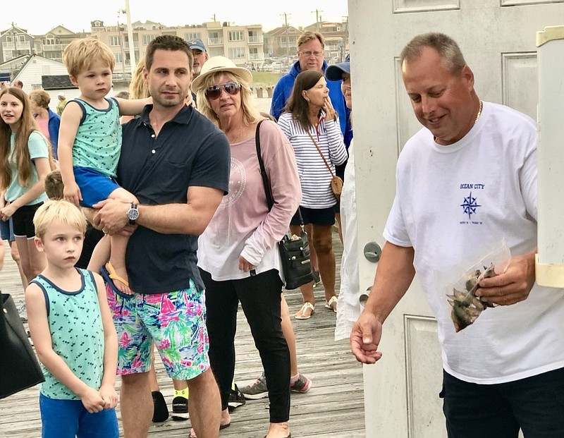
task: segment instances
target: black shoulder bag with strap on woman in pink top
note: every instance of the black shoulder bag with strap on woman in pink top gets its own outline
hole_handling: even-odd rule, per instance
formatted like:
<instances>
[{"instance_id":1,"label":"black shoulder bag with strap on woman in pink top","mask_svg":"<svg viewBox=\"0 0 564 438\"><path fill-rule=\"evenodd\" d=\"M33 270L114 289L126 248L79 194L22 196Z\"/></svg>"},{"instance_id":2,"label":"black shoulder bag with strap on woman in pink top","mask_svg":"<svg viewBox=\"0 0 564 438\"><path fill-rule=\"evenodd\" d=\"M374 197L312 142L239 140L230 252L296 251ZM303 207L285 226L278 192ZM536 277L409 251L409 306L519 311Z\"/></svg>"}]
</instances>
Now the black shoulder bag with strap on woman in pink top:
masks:
<instances>
[{"instance_id":1,"label":"black shoulder bag with strap on woman in pink top","mask_svg":"<svg viewBox=\"0 0 564 438\"><path fill-rule=\"evenodd\" d=\"M272 199L272 192L270 188L269 177L266 175L264 169L264 162L260 151L260 135L259 128L263 121L259 121L257 125L257 133L255 134L255 145L257 146L257 157L259 159L260 174L262 176L262 183L264 185L264 192L266 193L266 203L269 206L269 211L274 205ZM300 208L298 207L298 214ZM300 214L301 219L301 214ZM307 233L302 228L300 236L289 237L288 233L284 235L282 240L278 242L280 249L280 256L282 260L282 272L288 291L299 288L300 286L313 281L312 263L309 260L309 244L307 243Z\"/></svg>"}]
</instances>

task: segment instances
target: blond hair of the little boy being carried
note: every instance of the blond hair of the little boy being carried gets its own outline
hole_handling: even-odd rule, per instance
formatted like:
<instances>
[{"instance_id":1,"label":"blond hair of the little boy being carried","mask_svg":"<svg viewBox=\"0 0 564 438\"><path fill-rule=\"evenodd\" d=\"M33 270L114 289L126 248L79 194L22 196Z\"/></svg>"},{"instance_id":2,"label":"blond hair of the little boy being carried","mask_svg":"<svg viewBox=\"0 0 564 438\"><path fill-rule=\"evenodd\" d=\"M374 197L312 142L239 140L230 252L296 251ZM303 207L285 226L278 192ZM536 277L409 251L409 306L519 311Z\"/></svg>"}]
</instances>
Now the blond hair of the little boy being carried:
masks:
<instances>
[{"instance_id":1,"label":"blond hair of the little boy being carried","mask_svg":"<svg viewBox=\"0 0 564 438\"><path fill-rule=\"evenodd\" d=\"M73 39L63 50L63 63L68 74L75 78L86 71L94 61L106 63L114 71L116 59L111 49L97 38Z\"/></svg>"}]
</instances>

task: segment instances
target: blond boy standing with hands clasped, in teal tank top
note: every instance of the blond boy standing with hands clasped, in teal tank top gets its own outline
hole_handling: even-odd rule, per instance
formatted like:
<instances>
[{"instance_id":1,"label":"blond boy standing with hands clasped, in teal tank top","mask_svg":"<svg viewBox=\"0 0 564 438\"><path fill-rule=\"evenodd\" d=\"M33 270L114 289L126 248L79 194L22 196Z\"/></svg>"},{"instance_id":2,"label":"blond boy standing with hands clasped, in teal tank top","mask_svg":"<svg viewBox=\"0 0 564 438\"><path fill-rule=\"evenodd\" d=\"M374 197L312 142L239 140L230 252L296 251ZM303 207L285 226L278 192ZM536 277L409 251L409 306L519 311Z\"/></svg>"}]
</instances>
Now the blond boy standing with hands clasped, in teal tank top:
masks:
<instances>
[{"instance_id":1,"label":"blond boy standing with hands clasped, in teal tank top","mask_svg":"<svg viewBox=\"0 0 564 438\"><path fill-rule=\"evenodd\" d=\"M43 364L42 438L117 438L118 341L104 282L75 268L86 219L64 200L47 201L33 219L47 268L25 289L32 341Z\"/></svg>"}]
</instances>

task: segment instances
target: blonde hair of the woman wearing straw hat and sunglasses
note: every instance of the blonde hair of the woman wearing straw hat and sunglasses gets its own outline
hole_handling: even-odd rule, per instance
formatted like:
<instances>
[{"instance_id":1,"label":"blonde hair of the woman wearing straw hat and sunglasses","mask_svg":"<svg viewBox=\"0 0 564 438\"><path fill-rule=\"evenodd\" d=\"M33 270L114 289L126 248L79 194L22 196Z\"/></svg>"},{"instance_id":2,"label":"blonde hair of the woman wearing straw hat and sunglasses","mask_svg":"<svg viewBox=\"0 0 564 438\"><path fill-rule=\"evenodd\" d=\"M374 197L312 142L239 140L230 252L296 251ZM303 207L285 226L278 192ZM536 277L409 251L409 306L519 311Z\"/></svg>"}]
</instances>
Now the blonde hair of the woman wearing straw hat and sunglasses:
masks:
<instances>
[{"instance_id":1,"label":"blonde hair of the woman wearing straw hat and sunglasses","mask_svg":"<svg viewBox=\"0 0 564 438\"><path fill-rule=\"evenodd\" d=\"M240 94L241 109L243 109L243 123L245 123L245 125L247 126L250 126L252 125L252 123L257 123L257 121L262 120L263 117L260 115L260 111L259 109L257 109L255 100L252 97L250 84L247 83L247 81L241 78L239 75L231 73L230 71L218 71L216 73L208 75L197 92L198 111L209 118L209 120L214 122L216 126L219 126L219 118L217 114L214 113L212 107L209 105L209 101L206 97L206 90L208 87L214 85L214 80L216 78L220 78L223 75L226 76L228 80L241 85Z\"/></svg>"}]
</instances>

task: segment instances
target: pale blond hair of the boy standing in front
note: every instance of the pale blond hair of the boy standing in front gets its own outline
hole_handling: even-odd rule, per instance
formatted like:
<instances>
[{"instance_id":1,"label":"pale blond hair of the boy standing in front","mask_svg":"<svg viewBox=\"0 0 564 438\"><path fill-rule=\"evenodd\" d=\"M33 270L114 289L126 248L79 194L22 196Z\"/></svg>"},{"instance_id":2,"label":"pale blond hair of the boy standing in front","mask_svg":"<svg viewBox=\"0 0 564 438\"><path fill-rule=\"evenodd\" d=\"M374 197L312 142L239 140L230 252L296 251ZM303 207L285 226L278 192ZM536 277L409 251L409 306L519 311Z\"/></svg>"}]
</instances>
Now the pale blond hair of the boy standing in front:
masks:
<instances>
[{"instance_id":1,"label":"pale blond hair of the boy standing in front","mask_svg":"<svg viewBox=\"0 0 564 438\"><path fill-rule=\"evenodd\" d=\"M35 236L43 238L54 221L72 226L82 234L86 232L86 218L78 207L65 200L49 200L37 209L33 217Z\"/></svg>"}]
</instances>

